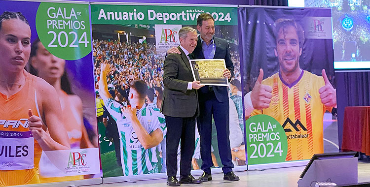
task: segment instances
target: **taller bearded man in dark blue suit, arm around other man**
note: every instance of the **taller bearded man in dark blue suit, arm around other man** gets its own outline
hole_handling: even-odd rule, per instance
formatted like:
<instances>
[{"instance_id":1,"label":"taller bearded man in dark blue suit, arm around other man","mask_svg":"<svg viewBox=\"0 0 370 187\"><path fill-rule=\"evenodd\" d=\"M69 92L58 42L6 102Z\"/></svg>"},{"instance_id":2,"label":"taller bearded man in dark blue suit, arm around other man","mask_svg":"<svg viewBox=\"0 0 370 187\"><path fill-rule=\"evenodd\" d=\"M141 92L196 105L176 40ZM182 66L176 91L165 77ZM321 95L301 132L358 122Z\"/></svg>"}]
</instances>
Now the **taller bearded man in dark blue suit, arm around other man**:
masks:
<instances>
[{"instance_id":1,"label":"taller bearded man in dark blue suit, arm around other man","mask_svg":"<svg viewBox=\"0 0 370 187\"><path fill-rule=\"evenodd\" d=\"M224 59L226 69L223 76L229 80L234 74L234 65L231 61L228 43L221 38L215 37L215 20L207 13L202 13L197 19L197 30L200 32L198 43L192 53L194 59ZM168 53L180 53L171 48ZM239 181L239 177L232 172L234 164L231 162L231 149L229 140L229 102L227 87L204 86L198 90L199 118L197 118L200 134L200 156L202 158L201 169L204 171L200 176L202 182L211 181L211 156L212 144L212 116L215 120L219 153L222 162L223 179Z\"/></svg>"}]
</instances>

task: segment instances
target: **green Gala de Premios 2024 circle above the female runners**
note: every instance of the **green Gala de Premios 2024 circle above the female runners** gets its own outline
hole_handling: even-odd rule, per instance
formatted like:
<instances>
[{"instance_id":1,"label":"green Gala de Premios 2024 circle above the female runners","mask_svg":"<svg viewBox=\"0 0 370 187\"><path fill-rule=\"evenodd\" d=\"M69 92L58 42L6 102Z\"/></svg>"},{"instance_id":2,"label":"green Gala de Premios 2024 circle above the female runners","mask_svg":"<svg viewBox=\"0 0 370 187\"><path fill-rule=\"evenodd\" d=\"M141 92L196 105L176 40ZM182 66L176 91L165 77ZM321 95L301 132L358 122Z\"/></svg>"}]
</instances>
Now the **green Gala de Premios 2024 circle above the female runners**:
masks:
<instances>
[{"instance_id":1,"label":"green Gala de Premios 2024 circle above the female runners","mask_svg":"<svg viewBox=\"0 0 370 187\"><path fill-rule=\"evenodd\" d=\"M53 55L81 59L91 52L87 4L41 2L36 15L38 37Z\"/></svg>"}]
</instances>

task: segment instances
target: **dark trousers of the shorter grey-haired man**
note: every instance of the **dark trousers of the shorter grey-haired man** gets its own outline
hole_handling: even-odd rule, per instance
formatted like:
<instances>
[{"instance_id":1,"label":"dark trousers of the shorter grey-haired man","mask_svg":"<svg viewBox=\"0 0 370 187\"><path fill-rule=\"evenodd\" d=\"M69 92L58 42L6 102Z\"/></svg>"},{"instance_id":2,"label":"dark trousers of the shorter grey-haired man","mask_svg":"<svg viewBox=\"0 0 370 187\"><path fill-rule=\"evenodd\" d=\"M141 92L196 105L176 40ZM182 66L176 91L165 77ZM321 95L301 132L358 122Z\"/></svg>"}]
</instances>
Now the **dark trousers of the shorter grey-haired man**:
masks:
<instances>
[{"instance_id":1,"label":"dark trousers of the shorter grey-haired man","mask_svg":"<svg viewBox=\"0 0 370 187\"><path fill-rule=\"evenodd\" d=\"M195 117L177 118L165 116L167 125L166 164L167 176L176 176L177 150L181 139L180 175L191 171L191 157L195 149Z\"/></svg>"}]
</instances>

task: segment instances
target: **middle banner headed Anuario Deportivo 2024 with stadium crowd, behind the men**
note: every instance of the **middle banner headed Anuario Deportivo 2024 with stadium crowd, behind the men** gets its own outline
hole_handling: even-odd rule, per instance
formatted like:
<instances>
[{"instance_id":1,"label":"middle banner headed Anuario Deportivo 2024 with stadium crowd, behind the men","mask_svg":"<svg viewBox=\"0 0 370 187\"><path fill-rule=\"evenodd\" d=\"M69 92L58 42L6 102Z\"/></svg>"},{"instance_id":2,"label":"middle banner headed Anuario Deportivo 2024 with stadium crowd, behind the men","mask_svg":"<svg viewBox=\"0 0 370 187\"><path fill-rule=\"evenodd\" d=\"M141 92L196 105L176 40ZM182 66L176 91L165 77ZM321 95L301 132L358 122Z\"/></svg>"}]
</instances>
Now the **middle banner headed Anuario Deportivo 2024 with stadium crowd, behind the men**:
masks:
<instances>
[{"instance_id":1,"label":"middle banner headed Anuario Deportivo 2024 with stadium crowd, behind the men","mask_svg":"<svg viewBox=\"0 0 370 187\"><path fill-rule=\"evenodd\" d=\"M196 29L197 16L208 12L215 18L215 36L227 40L230 55L234 63L234 78L239 84L230 86L230 144L234 165L245 165L245 146L243 141L244 125L242 114L242 94L240 84L240 62L238 54L238 28L236 7L198 7L198 6L167 6L153 4L92 4L93 51L95 62L96 88L104 79L112 98L119 102L104 100L107 111L105 120L99 123L100 141L110 139L115 151L102 152L102 167L104 177L131 176L166 172L165 142L166 126L164 116L157 113L161 107L163 93L163 62L165 53L173 46L178 46L178 31L185 26ZM100 77L101 66L106 62L111 66L108 77ZM145 142L140 142L130 121L124 120L119 107L129 101L129 85L133 80L143 80L148 85L149 92L146 104L138 112L138 118L147 132L161 129L162 142L153 148L144 148ZM99 93L102 88L99 88ZM100 94L101 95L101 94ZM102 95L101 95L102 96ZM102 96L104 97L104 96ZM144 109L144 107L146 107ZM181 107L181 106L179 106ZM176 110L176 108L174 108ZM117 113L118 112L118 113ZM121 120L123 119L123 120ZM149 120L149 121L148 121ZM147 124L150 125L147 125ZM147 126L146 126L147 125ZM102 131L106 126L106 130ZM118 126L118 128L117 128ZM108 133L104 137L103 134ZM170 140L171 141L171 140ZM194 150L192 167L201 166L200 138L196 130L196 148ZM106 143L105 143L106 144ZM119 146L116 146L119 145ZM217 133L213 124L212 133L213 163L222 167L217 146ZM105 149L107 150L107 149ZM180 159L180 152L178 153ZM180 163L180 162L179 162Z\"/></svg>"}]
</instances>

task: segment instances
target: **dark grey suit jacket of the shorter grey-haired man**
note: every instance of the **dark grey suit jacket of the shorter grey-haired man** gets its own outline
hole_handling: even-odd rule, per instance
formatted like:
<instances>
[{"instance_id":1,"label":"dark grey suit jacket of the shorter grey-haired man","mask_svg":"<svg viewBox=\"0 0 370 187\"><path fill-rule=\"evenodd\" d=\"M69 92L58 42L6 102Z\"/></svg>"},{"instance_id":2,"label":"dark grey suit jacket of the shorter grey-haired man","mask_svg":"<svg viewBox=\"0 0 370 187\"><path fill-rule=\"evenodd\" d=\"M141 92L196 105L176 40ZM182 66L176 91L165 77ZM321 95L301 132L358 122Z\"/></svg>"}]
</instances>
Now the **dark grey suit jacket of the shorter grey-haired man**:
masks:
<instances>
[{"instance_id":1,"label":"dark grey suit jacket of the shorter grey-haired man","mask_svg":"<svg viewBox=\"0 0 370 187\"><path fill-rule=\"evenodd\" d=\"M198 94L187 90L187 83L194 81L190 63L184 51L169 54L163 65L163 100L161 112L166 116L189 118L199 115Z\"/></svg>"}]
</instances>

